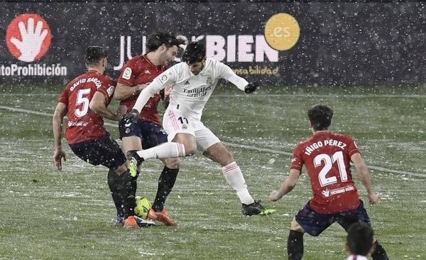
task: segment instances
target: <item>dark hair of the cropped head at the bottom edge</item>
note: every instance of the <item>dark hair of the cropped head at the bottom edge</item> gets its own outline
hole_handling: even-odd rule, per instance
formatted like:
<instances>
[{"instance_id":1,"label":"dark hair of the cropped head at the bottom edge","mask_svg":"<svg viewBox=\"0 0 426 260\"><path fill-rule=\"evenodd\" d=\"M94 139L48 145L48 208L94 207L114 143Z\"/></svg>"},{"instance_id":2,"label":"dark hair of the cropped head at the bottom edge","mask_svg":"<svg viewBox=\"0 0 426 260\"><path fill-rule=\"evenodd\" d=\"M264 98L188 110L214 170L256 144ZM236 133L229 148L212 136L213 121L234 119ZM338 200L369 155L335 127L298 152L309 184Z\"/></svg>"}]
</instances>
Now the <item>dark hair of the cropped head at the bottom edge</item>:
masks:
<instances>
[{"instance_id":1,"label":"dark hair of the cropped head at the bottom edge","mask_svg":"<svg viewBox=\"0 0 426 260\"><path fill-rule=\"evenodd\" d=\"M348 229L346 243L351 254L366 256L373 247L373 239L373 229L364 222L356 222Z\"/></svg>"}]
</instances>

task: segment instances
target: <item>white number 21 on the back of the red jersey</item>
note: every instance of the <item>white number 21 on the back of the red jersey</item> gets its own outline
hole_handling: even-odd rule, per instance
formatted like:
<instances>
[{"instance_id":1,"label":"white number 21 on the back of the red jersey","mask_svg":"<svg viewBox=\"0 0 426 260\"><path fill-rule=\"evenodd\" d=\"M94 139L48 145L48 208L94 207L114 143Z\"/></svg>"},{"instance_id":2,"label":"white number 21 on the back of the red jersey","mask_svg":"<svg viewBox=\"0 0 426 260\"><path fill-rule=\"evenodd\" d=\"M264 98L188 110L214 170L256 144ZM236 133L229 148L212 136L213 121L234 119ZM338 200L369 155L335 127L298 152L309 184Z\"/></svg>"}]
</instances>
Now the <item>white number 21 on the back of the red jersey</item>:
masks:
<instances>
[{"instance_id":1,"label":"white number 21 on the back of the red jersey","mask_svg":"<svg viewBox=\"0 0 426 260\"><path fill-rule=\"evenodd\" d=\"M324 163L324 167L321 169L320 174L318 174L318 180L320 180L321 187L325 185L330 185L337 183L336 176L327 177L327 173L332 169L333 163L337 162L337 167L339 168L340 180L347 181L348 173L346 173L346 166L344 166L343 152L338 151L329 156L326 153L321 153L314 158L315 167L319 167Z\"/></svg>"}]
</instances>

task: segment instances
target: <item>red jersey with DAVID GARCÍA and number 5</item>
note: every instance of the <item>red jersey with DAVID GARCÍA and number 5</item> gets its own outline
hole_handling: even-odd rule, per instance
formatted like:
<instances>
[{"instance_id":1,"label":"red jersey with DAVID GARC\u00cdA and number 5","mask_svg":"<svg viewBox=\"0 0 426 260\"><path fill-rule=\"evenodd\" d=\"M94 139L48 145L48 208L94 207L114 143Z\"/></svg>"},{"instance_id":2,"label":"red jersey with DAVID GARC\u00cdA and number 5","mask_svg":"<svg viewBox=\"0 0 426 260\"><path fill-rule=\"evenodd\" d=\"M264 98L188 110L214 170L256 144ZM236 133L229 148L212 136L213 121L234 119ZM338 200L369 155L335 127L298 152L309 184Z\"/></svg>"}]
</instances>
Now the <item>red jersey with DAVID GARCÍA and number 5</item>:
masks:
<instances>
[{"instance_id":1,"label":"red jersey with DAVID GARC\u00cdA and number 5","mask_svg":"<svg viewBox=\"0 0 426 260\"><path fill-rule=\"evenodd\" d=\"M89 70L68 83L58 99L58 102L67 105L65 138L68 143L96 140L104 136L107 131L104 120L89 109L89 103L95 92L101 92L108 105L115 87L114 80L94 70Z\"/></svg>"}]
</instances>

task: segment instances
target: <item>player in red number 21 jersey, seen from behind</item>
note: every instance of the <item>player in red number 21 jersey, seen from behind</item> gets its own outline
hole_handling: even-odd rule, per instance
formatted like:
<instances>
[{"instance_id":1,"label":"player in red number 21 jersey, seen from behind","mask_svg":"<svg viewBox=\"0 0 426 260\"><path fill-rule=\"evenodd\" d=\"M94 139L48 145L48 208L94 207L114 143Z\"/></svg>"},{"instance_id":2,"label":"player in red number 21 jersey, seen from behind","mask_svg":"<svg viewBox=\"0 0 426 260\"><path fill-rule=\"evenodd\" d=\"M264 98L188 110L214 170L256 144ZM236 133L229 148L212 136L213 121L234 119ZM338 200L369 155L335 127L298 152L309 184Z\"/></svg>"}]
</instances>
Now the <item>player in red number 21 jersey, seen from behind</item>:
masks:
<instances>
[{"instance_id":1,"label":"player in red number 21 jersey, seen from behind","mask_svg":"<svg viewBox=\"0 0 426 260\"><path fill-rule=\"evenodd\" d=\"M288 236L288 259L303 256L303 234L320 235L334 222L347 232L351 224L365 222L371 225L352 180L350 162L354 163L361 183L367 190L368 202L374 204L378 197L371 187L370 174L361 153L351 136L328 131L333 111L317 104L307 111L313 136L298 144L293 152L290 174L280 190L273 191L270 200L275 202L295 187L302 166L310 178L312 199L302 207L291 222ZM388 260L385 249L374 239L373 260Z\"/></svg>"}]
</instances>

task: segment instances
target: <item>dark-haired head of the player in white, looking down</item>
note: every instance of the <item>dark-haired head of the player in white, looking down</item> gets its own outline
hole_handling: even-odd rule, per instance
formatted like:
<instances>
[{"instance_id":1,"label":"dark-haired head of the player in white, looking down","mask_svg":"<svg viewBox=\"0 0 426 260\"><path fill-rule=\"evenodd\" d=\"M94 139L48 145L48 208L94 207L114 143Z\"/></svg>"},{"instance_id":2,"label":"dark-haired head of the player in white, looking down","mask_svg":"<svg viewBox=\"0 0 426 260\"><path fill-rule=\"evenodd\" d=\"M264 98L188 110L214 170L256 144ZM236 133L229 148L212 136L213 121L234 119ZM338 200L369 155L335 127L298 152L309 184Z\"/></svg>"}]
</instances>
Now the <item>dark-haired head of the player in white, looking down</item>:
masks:
<instances>
[{"instance_id":1,"label":"dark-haired head of the player in white, looking down","mask_svg":"<svg viewBox=\"0 0 426 260\"><path fill-rule=\"evenodd\" d=\"M188 44L182 54L182 61L190 66L190 70L194 75L201 72L206 59L206 46L201 41L193 41Z\"/></svg>"}]
</instances>

